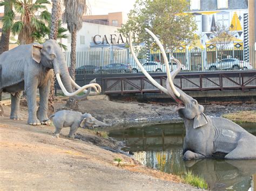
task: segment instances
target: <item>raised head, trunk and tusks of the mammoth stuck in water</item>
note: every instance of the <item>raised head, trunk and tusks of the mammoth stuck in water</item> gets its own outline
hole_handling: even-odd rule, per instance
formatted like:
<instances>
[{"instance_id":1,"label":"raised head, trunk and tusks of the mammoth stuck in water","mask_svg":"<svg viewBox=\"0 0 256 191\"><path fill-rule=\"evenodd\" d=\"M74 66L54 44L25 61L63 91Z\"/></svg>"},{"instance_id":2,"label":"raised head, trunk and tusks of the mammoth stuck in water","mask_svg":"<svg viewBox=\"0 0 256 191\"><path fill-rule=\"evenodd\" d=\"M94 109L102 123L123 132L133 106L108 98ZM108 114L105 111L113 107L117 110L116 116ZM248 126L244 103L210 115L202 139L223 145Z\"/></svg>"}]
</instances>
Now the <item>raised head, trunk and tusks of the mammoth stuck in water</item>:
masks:
<instances>
[{"instance_id":1,"label":"raised head, trunk and tusks of the mammoth stuck in water","mask_svg":"<svg viewBox=\"0 0 256 191\"><path fill-rule=\"evenodd\" d=\"M173 58L173 61L177 63L177 69L170 72L169 62L165 53L165 49L163 45L161 45L159 39L154 35L149 29L145 29L151 37L156 41L157 45L160 48L161 53L163 54L165 67L166 67L166 74L167 74L167 80L166 80L166 88L161 86L157 81L155 81L149 73L146 72L146 70L143 68L139 60L137 59L132 44L131 44L131 34L129 34L129 44L132 56L134 60L136 61L138 67L144 75L147 77L147 79L150 80L151 83L154 84L154 86L158 87L161 91L163 91L165 94L170 95L174 101L178 103L178 107L176 111L178 111L180 117L188 120L194 119L193 128L198 128L200 126L203 126L208 123L207 117L205 116L204 107L203 105L199 105L194 98L184 93L184 91L180 90L179 88L176 88L173 84L174 77L179 73L181 69L181 63L179 60Z\"/></svg>"}]
</instances>

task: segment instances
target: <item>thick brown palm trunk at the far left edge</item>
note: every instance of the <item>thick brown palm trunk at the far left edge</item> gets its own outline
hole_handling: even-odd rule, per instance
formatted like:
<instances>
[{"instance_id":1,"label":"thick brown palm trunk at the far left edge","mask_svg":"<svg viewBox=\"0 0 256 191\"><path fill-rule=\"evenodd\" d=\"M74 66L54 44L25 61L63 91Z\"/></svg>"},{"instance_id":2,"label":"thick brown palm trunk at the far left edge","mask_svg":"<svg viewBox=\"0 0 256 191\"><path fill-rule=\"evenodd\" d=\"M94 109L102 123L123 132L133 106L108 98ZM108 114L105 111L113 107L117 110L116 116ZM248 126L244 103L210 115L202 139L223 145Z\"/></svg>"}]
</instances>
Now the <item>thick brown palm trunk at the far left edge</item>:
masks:
<instances>
[{"instance_id":1,"label":"thick brown palm trunk at the far left edge","mask_svg":"<svg viewBox=\"0 0 256 191\"><path fill-rule=\"evenodd\" d=\"M4 0L0 2L0 6L4 5L4 17L2 36L0 41L0 54L9 50L9 40L11 33L11 26L14 22L14 11L12 11L12 0Z\"/></svg>"}]
</instances>

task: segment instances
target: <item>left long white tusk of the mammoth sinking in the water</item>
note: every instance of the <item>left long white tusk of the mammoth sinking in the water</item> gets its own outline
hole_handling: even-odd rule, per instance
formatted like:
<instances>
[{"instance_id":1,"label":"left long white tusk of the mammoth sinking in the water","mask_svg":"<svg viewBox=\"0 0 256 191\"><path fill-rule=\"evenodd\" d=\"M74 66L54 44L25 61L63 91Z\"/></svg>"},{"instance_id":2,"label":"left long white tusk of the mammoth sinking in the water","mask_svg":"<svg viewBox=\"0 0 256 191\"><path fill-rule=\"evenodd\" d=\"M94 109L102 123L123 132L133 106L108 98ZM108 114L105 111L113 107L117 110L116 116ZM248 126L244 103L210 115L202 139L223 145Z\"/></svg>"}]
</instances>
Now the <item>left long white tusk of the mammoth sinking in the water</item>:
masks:
<instances>
[{"instance_id":1,"label":"left long white tusk of the mammoth sinking in the water","mask_svg":"<svg viewBox=\"0 0 256 191\"><path fill-rule=\"evenodd\" d=\"M142 64L139 62L137 56L134 53L133 50L133 46L132 46L132 37L131 37L131 32L129 32L129 45L130 45L130 49L131 49L131 53L133 56L133 59L136 61L138 67L140 68L140 70L142 70L143 74L147 77L147 79L149 79L150 82L153 83L154 86L156 86L157 88L159 88L161 91L163 91L165 94L169 95L168 91L166 88L164 88L163 86L161 86L156 80L153 79L153 77L151 77L149 75L149 73L147 73L147 71L143 68Z\"/></svg>"}]
</instances>

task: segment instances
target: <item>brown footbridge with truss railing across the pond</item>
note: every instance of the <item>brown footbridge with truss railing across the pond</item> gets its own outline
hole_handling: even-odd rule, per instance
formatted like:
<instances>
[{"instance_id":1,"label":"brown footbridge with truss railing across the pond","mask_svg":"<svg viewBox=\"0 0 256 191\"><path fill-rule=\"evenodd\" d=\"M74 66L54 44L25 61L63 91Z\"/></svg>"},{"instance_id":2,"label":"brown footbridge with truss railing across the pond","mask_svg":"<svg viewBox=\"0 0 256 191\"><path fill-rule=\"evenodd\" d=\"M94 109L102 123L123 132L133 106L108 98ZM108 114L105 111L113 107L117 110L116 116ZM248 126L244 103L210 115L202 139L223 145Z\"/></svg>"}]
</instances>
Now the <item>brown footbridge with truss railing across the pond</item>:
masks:
<instances>
[{"instance_id":1,"label":"brown footbridge with truss railing across the pond","mask_svg":"<svg viewBox=\"0 0 256 191\"><path fill-rule=\"evenodd\" d=\"M165 86L165 73L151 73L161 86ZM104 94L161 93L143 73L125 74L77 74L80 86L92 79L102 86ZM256 70L232 70L216 72L180 72L174 84L184 91L241 90L256 89Z\"/></svg>"}]
</instances>

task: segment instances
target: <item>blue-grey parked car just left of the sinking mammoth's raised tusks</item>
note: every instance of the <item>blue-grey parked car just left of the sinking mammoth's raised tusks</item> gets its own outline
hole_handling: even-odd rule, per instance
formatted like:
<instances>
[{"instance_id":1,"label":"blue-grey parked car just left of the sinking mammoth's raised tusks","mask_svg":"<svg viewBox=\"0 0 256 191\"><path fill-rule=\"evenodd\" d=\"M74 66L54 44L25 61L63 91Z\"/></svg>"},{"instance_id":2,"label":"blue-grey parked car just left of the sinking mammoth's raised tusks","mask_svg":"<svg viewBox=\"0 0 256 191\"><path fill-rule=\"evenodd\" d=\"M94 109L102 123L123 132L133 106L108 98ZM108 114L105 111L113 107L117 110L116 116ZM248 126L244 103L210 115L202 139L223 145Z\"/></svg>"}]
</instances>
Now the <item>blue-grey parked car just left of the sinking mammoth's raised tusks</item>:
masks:
<instances>
[{"instance_id":1,"label":"blue-grey parked car just left of the sinking mammoth's raised tusks","mask_svg":"<svg viewBox=\"0 0 256 191\"><path fill-rule=\"evenodd\" d=\"M97 69L97 73L131 73L130 65L124 63L110 63Z\"/></svg>"}]
</instances>

